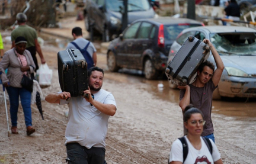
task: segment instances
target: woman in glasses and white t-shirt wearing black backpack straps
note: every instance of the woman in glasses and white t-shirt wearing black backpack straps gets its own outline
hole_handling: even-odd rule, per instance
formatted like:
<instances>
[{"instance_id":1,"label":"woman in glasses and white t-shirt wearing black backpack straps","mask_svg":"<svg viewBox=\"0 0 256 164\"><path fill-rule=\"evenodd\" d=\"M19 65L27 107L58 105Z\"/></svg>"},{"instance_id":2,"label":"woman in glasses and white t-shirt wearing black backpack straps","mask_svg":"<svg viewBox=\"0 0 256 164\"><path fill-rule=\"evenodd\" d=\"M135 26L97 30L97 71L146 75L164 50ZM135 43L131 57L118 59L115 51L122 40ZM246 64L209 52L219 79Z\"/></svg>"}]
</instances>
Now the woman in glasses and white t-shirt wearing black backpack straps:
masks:
<instances>
[{"instance_id":1,"label":"woman in glasses and white t-shirt wearing black backpack straps","mask_svg":"<svg viewBox=\"0 0 256 164\"><path fill-rule=\"evenodd\" d=\"M210 148L207 146L207 141L204 140L203 137L201 137L201 133L203 132L203 126L205 123L205 121L203 120L202 112L197 108L190 108L189 106L185 108L184 111L184 126L188 130L187 136L184 136L186 142L185 144L187 144L187 147L184 147L184 144L180 140L181 138L175 140L175 142L172 144L171 152L169 153L169 163L196 164L205 162L207 164L222 164L222 159L215 143L211 139L208 140L212 145L211 154ZM183 149L187 148L187 157L184 157Z\"/></svg>"}]
</instances>

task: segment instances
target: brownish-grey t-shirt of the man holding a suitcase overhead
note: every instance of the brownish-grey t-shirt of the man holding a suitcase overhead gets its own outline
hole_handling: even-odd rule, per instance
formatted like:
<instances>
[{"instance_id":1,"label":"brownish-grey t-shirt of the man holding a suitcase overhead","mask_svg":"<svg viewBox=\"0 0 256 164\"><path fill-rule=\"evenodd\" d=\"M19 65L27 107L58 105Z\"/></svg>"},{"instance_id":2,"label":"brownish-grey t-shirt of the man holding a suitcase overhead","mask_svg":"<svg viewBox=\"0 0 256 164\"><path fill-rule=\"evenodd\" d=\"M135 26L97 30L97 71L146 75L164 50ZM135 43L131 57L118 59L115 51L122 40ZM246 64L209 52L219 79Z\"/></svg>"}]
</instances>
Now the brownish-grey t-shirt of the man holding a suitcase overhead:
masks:
<instances>
[{"instance_id":1,"label":"brownish-grey t-shirt of the man holding a suitcase overhead","mask_svg":"<svg viewBox=\"0 0 256 164\"><path fill-rule=\"evenodd\" d=\"M198 88L192 84L190 86L190 104L198 108L203 112L203 119L206 121L204 124L204 130L201 136L207 136L213 133L212 124L212 97L213 91L217 88L214 85L212 79L204 85L204 87ZM180 91L180 100L183 99L185 94L185 89Z\"/></svg>"}]
</instances>

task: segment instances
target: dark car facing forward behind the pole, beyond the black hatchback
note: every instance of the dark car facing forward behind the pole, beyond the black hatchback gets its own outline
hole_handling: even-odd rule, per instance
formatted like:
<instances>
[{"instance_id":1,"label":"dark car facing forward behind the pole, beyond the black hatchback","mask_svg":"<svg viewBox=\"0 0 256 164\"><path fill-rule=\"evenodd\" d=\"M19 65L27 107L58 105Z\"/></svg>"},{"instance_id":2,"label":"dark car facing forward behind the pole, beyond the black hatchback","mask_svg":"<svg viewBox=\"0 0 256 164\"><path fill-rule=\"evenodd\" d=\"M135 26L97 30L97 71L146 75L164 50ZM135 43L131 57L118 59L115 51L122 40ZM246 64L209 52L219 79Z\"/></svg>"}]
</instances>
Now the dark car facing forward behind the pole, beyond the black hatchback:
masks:
<instances>
[{"instance_id":1,"label":"dark car facing forward behind the pole, beyond the black hatchback","mask_svg":"<svg viewBox=\"0 0 256 164\"><path fill-rule=\"evenodd\" d=\"M97 30L104 41L112 40L122 32L122 0L87 0L84 9L85 27L94 35ZM158 17L148 0L128 0L128 24L140 18Z\"/></svg>"}]
</instances>

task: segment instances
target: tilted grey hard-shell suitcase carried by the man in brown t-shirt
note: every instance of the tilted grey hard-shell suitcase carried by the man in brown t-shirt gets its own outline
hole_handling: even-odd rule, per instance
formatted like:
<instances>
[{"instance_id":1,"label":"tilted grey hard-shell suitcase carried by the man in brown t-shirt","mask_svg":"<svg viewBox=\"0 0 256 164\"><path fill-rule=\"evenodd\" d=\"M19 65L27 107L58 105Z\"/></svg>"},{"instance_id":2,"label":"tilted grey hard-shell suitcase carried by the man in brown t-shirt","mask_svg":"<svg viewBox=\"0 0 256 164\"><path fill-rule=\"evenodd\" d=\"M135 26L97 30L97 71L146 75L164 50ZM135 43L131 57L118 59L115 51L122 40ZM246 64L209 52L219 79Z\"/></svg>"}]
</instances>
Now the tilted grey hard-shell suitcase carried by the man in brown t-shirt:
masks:
<instances>
[{"instance_id":1,"label":"tilted grey hard-shell suitcase carried by the man in brown t-shirt","mask_svg":"<svg viewBox=\"0 0 256 164\"><path fill-rule=\"evenodd\" d=\"M199 65L209 57L210 47L196 37L189 36L165 69L169 81L187 85L194 81Z\"/></svg>"}]
</instances>

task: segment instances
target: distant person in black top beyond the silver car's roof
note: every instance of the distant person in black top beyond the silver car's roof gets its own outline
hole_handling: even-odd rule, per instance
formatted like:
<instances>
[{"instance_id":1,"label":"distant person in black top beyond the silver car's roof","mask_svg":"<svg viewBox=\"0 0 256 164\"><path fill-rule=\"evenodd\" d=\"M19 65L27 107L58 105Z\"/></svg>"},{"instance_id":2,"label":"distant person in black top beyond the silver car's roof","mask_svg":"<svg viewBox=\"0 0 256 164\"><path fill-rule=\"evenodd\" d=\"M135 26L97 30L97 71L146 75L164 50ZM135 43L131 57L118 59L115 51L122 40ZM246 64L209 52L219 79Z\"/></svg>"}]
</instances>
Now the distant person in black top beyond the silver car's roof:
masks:
<instances>
[{"instance_id":1,"label":"distant person in black top beyond the silver car's roof","mask_svg":"<svg viewBox=\"0 0 256 164\"><path fill-rule=\"evenodd\" d=\"M230 0L229 5L224 9L226 18L239 21L240 20L240 7L236 0ZM226 25L230 25L228 22Z\"/></svg>"}]
</instances>

